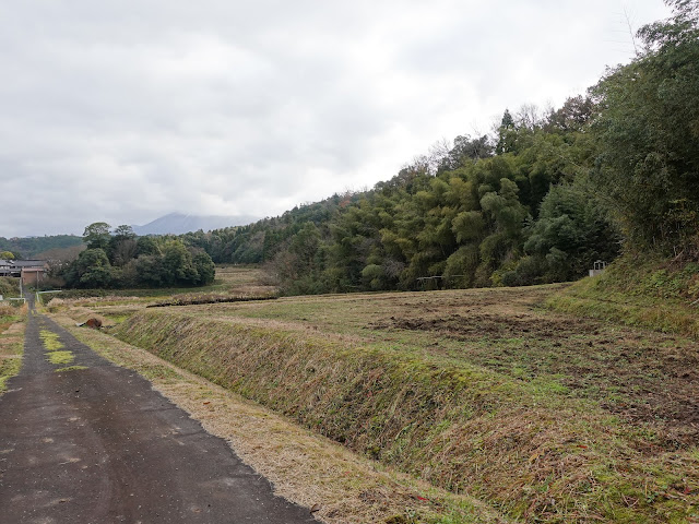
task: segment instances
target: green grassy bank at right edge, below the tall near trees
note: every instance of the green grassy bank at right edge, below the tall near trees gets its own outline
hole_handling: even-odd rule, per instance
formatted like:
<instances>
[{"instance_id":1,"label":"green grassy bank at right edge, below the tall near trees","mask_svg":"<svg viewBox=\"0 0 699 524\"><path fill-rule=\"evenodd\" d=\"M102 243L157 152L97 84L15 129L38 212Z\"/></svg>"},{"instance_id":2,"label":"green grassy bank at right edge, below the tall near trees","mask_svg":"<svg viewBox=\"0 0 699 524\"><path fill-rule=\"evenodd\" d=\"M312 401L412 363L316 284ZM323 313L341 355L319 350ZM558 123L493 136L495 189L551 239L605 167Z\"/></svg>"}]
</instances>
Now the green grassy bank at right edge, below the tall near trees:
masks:
<instances>
[{"instance_id":1,"label":"green grassy bank at right edge, below the tall near trees","mask_svg":"<svg viewBox=\"0 0 699 524\"><path fill-rule=\"evenodd\" d=\"M547 306L596 319L699 338L699 264L626 255Z\"/></svg>"}]
</instances>

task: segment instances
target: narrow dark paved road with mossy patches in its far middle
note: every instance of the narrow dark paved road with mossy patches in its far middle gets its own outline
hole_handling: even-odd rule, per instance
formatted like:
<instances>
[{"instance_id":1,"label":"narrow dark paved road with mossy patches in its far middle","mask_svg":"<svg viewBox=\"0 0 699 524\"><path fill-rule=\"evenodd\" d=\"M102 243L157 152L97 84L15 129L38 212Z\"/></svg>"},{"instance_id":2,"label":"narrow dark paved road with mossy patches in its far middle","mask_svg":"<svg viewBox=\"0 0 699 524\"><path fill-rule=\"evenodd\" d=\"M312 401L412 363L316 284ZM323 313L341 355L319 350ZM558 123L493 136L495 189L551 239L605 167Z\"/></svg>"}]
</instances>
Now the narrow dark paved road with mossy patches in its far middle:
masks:
<instances>
[{"instance_id":1,"label":"narrow dark paved road with mossy patches in its far middle","mask_svg":"<svg viewBox=\"0 0 699 524\"><path fill-rule=\"evenodd\" d=\"M71 352L48 360L40 332ZM309 523L222 439L128 369L32 313L20 374L0 396L0 522Z\"/></svg>"}]
</instances>

